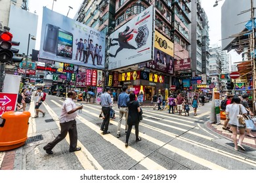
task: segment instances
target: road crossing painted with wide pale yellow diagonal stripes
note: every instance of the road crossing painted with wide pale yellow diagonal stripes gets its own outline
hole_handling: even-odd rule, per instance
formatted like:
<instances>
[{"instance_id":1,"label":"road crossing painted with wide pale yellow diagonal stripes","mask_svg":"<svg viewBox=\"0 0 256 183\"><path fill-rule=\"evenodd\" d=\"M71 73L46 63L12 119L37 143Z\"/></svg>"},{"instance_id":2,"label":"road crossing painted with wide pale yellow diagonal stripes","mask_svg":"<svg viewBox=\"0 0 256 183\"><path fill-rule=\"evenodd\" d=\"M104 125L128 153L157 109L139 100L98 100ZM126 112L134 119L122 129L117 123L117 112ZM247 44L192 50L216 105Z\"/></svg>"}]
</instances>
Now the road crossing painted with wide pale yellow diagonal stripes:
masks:
<instances>
[{"instance_id":1,"label":"road crossing painted with wide pale yellow diagonal stripes","mask_svg":"<svg viewBox=\"0 0 256 183\"><path fill-rule=\"evenodd\" d=\"M47 117L55 121L55 124L51 124L56 125L51 129L54 136L58 135L60 130L58 114L60 114L62 103L62 100L51 99L43 105L48 112ZM129 146L125 148L125 118L121 125L123 130L121 137L117 139L119 112L118 108L114 107L116 119L110 120L109 131L111 133L102 135L98 125L102 122L102 119L98 118L100 110L99 105L83 105L83 112L77 116L79 136L77 145L81 146L82 150L69 156L75 159L75 163L81 165L78 169L256 169L255 159L249 159L244 154L234 152L232 147L226 148L213 142L221 137L205 129L203 127L205 120L200 120L199 115L177 116L167 114L166 111L143 108L144 118L139 127L139 136L142 141L135 142L135 130L133 129ZM202 119L203 116L209 115L209 112L201 115ZM40 129L41 124L37 122L37 119L32 124L32 132L39 133L40 130L35 131L35 129ZM53 140L52 137L46 137L41 144L40 153L43 154L41 162L45 159L52 159L57 163L62 154L62 148L67 148L67 145L57 145L53 149L54 155L47 156L42 147L51 140ZM68 143L69 137L67 136L66 142L62 144ZM62 158L62 161L62 163L67 163L70 159ZM53 169L58 169L58 163ZM72 165L65 169L72 169Z\"/></svg>"}]
</instances>

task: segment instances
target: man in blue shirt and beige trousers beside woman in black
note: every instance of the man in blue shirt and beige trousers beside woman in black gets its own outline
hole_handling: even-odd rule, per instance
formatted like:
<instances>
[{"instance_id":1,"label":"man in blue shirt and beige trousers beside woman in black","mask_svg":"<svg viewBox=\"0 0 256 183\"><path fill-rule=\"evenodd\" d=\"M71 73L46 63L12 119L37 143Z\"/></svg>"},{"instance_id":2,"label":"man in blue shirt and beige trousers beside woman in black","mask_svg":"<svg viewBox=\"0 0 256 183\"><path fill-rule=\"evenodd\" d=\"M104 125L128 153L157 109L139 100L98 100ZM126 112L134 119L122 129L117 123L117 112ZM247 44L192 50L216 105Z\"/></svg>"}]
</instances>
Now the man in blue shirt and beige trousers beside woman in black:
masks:
<instances>
[{"instance_id":1,"label":"man in blue shirt and beige trousers beside woman in black","mask_svg":"<svg viewBox=\"0 0 256 183\"><path fill-rule=\"evenodd\" d=\"M118 96L117 107L119 108L119 120L117 124L117 135L119 138L121 135L121 122L123 119L123 114L125 114L125 134L127 133L128 125L127 125L127 116L128 116L128 107L127 102L129 101L129 95L127 92L127 86L122 86L122 92Z\"/></svg>"}]
</instances>

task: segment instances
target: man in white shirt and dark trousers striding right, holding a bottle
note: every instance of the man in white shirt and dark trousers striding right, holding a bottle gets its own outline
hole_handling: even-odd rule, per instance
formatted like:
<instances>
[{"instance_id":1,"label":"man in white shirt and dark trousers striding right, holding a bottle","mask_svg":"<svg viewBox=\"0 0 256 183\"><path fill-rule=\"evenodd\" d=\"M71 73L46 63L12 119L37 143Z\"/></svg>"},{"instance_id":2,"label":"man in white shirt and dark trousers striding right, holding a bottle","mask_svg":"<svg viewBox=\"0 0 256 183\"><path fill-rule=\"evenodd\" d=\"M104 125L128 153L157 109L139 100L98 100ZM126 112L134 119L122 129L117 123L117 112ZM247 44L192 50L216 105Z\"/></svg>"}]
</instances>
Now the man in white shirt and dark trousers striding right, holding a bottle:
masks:
<instances>
[{"instance_id":1,"label":"man in white shirt and dark trousers striding right, holding a bottle","mask_svg":"<svg viewBox=\"0 0 256 183\"><path fill-rule=\"evenodd\" d=\"M75 118L77 116L76 111L82 109L83 106L76 107L74 103L76 97L77 94L74 91L68 92L68 98L64 101L60 114L60 134L54 141L49 142L43 147L43 150L45 150L47 154L53 154L52 150L54 146L65 139L67 134L70 137L70 152L81 150L80 147L77 147L77 127Z\"/></svg>"}]
</instances>

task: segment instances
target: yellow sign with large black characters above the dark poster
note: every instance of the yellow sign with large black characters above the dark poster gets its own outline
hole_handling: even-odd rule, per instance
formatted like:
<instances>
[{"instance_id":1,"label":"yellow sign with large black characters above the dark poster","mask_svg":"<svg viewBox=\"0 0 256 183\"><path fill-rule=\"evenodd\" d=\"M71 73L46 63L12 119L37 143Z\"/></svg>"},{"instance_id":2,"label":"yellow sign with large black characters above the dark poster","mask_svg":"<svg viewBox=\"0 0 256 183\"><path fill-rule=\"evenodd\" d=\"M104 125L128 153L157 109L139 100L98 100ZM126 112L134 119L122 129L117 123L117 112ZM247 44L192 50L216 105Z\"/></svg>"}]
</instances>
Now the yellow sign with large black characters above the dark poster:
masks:
<instances>
[{"instance_id":1,"label":"yellow sign with large black characters above the dark poster","mask_svg":"<svg viewBox=\"0 0 256 183\"><path fill-rule=\"evenodd\" d=\"M155 31L155 48L165 52L169 56L173 56L173 42L161 35L158 31Z\"/></svg>"}]
</instances>

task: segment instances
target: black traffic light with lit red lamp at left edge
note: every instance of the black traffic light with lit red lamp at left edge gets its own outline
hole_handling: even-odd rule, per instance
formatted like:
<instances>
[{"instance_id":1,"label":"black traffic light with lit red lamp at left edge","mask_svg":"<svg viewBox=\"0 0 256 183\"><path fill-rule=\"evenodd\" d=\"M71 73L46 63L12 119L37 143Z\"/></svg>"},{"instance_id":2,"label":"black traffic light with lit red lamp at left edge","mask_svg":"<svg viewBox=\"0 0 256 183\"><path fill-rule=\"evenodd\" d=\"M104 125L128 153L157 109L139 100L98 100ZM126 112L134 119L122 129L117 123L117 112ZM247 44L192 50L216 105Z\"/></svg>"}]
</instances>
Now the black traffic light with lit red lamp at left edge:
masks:
<instances>
[{"instance_id":1,"label":"black traffic light with lit red lamp at left edge","mask_svg":"<svg viewBox=\"0 0 256 183\"><path fill-rule=\"evenodd\" d=\"M12 47L12 34L7 31L0 31L0 62L11 63L13 53Z\"/></svg>"}]
</instances>

